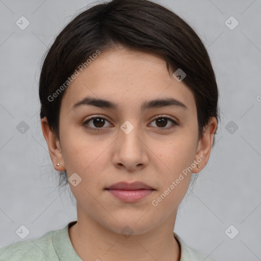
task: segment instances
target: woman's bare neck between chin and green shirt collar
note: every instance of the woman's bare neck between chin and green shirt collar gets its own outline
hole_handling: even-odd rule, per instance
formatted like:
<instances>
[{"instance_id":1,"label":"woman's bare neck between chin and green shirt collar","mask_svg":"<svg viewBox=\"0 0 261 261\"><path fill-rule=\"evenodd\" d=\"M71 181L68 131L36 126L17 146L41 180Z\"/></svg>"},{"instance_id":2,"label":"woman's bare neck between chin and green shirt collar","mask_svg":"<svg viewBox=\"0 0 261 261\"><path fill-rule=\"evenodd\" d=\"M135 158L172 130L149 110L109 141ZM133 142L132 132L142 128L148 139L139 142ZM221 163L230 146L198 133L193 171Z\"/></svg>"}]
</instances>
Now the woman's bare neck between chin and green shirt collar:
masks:
<instances>
[{"instance_id":1,"label":"woman's bare neck between chin and green shirt collar","mask_svg":"<svg viewBox=\"0 0 261 261\"><path fill-rule=\"evenodd\" d=\"M165 222L142 234L113 232L86 215L79 215L77 223L69 228L72 246L82 260L179 261L180 248L173 236L172 222ZM175 220L175 218L174 218Z\"/></svg>"}]
</instances>

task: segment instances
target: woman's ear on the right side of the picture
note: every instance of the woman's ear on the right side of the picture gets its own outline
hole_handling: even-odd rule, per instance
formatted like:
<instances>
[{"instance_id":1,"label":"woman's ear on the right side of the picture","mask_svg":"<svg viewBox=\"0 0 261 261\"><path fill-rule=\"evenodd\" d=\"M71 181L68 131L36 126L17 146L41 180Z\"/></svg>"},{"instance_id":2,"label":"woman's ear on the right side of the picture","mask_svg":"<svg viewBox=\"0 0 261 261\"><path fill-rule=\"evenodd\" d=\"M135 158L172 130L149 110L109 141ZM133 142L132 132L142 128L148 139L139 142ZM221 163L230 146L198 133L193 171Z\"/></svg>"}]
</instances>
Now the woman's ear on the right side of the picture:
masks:
<instances>
[{"instance_id":1,"label":"woman's ear on the right side of the picture","mask_svg":"<svg viewBox=\"0 0 261 261\"><path fill-rule=\"evenodd\" d=\"M208 162L208 159L210 158L211 149L213 145L213 139L214 134L217 129L217 119L216 117L211 117L210 123L208 123L204 129L203 129L203 136L198 141L196 154L194 163L196 165L195 168L193 168L193 173L198 173L200 170L202 170L205 165ZM197 167L197 164L199 164L200 169Z\"/></svg>"}]
</instances>

